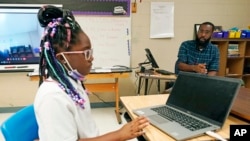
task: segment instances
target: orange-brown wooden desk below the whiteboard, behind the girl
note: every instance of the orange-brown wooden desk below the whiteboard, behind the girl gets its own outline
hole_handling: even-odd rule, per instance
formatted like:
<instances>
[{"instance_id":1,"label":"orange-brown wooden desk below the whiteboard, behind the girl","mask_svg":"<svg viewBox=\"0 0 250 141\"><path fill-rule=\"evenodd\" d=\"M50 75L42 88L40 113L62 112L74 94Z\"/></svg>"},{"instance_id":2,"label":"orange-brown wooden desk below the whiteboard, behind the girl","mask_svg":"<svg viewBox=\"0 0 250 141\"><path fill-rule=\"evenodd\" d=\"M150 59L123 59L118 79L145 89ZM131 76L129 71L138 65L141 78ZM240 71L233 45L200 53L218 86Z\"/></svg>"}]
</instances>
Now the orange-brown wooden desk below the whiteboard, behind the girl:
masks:
<instances>
[{"instance_id":1,"label":"orange-brown wooden desk below the whiteboard, behind the girl","mask_svg":"<svg viewBox=\"0 0 250 141\"><path fill-rule=\"evenodd\" d=\"M110 83L87 83L84 84L85 87L91 92L114 92L115 93L115 113L120 124L122 122L120 110L119 110L119 78L127 78L129 77L129 73L131 70L127 70L124 72L102 72L102 73L93 73L91 72L86 76L86 79L105 79L111 78L114 79L114 82ZM38 75L30 76L31 81L38 81Z\"/></svg>"}]
</instances>

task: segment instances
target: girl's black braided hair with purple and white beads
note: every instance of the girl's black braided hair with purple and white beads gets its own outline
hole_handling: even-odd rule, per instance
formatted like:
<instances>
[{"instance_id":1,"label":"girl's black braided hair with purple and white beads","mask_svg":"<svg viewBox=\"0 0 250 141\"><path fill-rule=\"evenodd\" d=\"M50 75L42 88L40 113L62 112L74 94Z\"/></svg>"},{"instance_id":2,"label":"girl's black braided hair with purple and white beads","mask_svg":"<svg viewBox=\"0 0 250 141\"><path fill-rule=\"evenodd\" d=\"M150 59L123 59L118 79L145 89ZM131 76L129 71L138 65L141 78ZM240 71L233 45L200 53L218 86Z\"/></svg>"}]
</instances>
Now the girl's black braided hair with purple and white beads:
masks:
<instances>
[{"instance_id":1,"label":"girl's black braided hair with purple and white beads","mask_svg":"<svg viewBox=\"0 0 250 141\"><path fill-rule=\"evenodd\" d=\"M69 51L79 42L78 34L83 32L81 27L69 10L55 6L42 7L37 16L41 27L44 27L40 44L39 86L44 79L52 77L76 104L84 107L84 99L71 84L65 67L56 58L60 50Z\"/></svg>"}]
</instances>

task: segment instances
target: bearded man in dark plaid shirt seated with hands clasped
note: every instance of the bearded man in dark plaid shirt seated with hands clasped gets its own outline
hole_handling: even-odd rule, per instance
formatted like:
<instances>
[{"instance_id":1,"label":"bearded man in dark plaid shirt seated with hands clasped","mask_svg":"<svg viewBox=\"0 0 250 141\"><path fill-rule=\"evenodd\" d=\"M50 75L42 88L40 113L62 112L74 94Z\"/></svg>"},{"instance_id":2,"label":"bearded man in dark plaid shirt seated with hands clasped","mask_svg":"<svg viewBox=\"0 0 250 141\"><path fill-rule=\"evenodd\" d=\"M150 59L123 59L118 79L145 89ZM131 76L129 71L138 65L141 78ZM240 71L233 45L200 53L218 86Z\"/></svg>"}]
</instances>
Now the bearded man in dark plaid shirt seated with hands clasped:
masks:
<instances>
[{"instance_id":1,"label":"bearded man in dark plaid shirt seated with hands clasped","mask_svg":"<svg viewBox=\"0 0 250 141\"><path fill-rule=\"evenodd\" d=\"M195 40L184 41L181 44L175 64L177 75L179 71L217 75L219 49L210 42L213 31L214 25L211 22L204 22L200 25ZM169 93L169 90L164 91L166 92Z\"/></svg>"}]
</instances>

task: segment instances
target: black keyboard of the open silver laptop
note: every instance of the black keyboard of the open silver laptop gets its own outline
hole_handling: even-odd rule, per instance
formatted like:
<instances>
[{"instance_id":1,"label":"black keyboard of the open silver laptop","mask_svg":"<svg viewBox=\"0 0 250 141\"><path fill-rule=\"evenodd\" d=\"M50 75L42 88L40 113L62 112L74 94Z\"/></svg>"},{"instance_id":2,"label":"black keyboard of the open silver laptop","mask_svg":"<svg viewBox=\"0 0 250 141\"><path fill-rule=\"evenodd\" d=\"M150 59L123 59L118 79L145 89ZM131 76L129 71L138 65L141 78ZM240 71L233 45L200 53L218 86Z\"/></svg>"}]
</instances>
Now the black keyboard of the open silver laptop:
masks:
<instances>
[{"instance_id":1,"label":"black keyboard of the open silver laptop","mask_svg":"<svg viewBox=\"0 0 250 141\"><path fill-rule=\"evenodd\" d=\"M204 123L204 122L197 120L193 117L189 117L183 113L175 111L175 110L173 110L169 107L166 107L166 106L152 108L152 110L157 112L160 116L162 116L170 121L178 122L181 126L184 126L191 131L195 131L195 130L206 128L206 127L210 126L207 123Z\"/></svg>"}]
</instances>

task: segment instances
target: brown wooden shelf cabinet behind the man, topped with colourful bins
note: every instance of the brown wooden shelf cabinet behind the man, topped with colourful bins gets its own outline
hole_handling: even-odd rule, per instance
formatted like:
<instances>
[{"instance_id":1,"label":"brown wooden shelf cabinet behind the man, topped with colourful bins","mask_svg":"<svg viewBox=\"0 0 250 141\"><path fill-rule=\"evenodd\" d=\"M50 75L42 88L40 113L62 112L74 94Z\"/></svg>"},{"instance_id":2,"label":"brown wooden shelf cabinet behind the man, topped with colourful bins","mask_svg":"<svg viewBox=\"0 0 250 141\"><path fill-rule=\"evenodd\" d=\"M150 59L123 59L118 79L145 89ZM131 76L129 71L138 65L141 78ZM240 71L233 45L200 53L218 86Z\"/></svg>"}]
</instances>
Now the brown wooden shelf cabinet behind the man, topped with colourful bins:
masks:
<instances>
[{"instance_id":1,"label":"brown wooden shelf cabinet behind the man, topped with colourful bins","mask_svg":"<svg viewBox=\"0 0 250 141\"><path fill-rule=\"evenodd\" d=\"M245 87L250 88L250 39L212 38L211 42L219 48L220 68L218 75L241 78ZM229 48L237 46L238 55L229 55Z\"/></svg>"}]
</instances>

